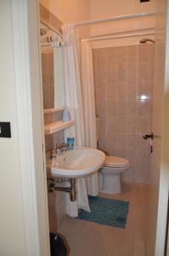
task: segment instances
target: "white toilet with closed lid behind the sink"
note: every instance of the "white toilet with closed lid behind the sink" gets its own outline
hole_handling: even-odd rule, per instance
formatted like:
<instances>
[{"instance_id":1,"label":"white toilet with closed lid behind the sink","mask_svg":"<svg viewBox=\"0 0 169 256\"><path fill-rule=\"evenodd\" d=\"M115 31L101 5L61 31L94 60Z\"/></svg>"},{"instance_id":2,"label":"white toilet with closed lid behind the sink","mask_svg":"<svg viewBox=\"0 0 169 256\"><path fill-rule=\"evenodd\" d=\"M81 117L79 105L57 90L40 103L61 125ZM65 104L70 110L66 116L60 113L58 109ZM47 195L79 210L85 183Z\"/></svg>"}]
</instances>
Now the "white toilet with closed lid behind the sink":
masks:
<instances>
[{"instance_id":1,"label":"white toilet with closed lid behind the sink","mask_svg":"<svg viewBox=\"0 0 169 256\"><path fill-rule=\"evenodd\" d=\"M129 167L129 161L124 158L106 156L99 172L99 191L107 194L121 193L121 174Z\"/></svg>"}]
</instances>

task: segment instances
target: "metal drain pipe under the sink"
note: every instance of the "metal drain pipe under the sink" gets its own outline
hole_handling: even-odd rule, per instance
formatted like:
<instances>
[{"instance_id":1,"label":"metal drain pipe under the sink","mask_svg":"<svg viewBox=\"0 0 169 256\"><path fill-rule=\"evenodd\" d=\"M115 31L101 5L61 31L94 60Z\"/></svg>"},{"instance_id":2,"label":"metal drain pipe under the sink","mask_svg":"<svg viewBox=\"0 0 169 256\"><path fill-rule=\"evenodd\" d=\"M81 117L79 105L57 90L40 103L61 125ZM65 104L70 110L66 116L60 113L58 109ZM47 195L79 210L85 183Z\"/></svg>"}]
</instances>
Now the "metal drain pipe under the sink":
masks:
<instances>
[{"instance_id":1,"label":"metal drain pipe under the sink","mask_svg":"<svg viewBox=\"0 0 169 256\"><path fill-rule=\"evenodd\" d=\"M48 180L51 181L51 183L49 183L48 185L49 192L54 192L54 190L67 192L70 194L70 201L76 201L76 179L75 178L70 178L66 180L70 182L70 187L57 186L56 183L59 183L59 182L55 179L48 179ZM61 181L60 183L63 183L63 181Z\"/></svg>"}]
</instances>

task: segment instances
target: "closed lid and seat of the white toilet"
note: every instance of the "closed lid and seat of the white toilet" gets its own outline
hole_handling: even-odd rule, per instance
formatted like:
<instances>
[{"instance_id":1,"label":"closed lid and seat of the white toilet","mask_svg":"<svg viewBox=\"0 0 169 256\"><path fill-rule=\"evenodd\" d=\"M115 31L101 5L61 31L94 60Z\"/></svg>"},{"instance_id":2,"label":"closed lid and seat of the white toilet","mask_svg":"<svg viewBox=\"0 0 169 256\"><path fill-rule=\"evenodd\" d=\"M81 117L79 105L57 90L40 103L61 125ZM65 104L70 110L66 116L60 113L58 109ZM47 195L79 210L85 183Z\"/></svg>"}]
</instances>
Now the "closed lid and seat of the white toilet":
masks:
<instances>
[{"instance_id":1,"label":"closed lid and seat of the white toilet","mask_svg":"<svg viewBox=\"0 0 169 256\"><path fill-rule=\"evenodd\" d=\"M104 166L129 166L130 163L127 159L117 156L106 156Z\"/></svg>"}]
</instances>

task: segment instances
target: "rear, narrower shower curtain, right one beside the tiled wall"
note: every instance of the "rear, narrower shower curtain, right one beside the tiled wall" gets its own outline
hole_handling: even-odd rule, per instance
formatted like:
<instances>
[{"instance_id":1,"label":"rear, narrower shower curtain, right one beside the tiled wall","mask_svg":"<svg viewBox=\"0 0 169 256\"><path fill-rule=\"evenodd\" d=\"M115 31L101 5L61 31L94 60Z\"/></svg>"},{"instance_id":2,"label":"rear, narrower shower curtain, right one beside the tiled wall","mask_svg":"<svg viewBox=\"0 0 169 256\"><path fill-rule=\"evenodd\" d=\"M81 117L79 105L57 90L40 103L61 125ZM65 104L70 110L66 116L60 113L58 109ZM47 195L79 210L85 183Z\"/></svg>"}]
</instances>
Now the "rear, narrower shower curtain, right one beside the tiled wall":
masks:
<instances>
[{"instance_id":1,"label":"rear, narrower shower curtain, right one beside the tiled wall","mask_svg":"<svg viewBox=\"0 0 169 256\"><path fill-rule=\"evenodd\" d=\"M81 75L84 108L85 146L97 148L93 55L90 43L81 42ZM88 195L99 195L99 176L87 177Z\"/></svg>"}]
</instances>

